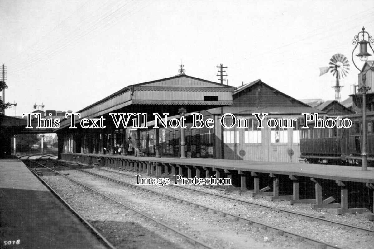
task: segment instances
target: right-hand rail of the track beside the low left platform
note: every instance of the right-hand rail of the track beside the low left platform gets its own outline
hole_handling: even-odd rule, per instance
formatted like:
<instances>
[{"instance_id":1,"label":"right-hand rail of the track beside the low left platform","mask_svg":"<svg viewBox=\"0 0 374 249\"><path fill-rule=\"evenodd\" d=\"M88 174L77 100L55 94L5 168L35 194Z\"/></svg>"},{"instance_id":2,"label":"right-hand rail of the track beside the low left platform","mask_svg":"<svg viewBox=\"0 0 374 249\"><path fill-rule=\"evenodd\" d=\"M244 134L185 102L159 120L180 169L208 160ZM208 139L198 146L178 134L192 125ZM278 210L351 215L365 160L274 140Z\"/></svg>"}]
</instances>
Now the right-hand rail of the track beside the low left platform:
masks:
<instances>
[{"instance_id":1,"label":"right-hand rail of the track beside the low left platform","mask_svg":"<svg viewBox=\"0 0 374 249\"><path fill-rule=\"evenodd\" d=\"M35 162L34 160L31 160L31 159L28 159L28 160L31 161L31 162L34 162L34 163L36 163L36 164L39 164L38 162ZM42 164L40 164L40 165L42 165ZM137 214L140 214L141 216L145 217L147 220L151 220L151 221L155 222L156 224L159 224L159 225L165 227L166 229L171 230L171 231L173 231L173 232L176 233L176 234L179 234L180 236L184 237L184 238L187 239L189 242L191 242L193 245L196 245L196 244L197 244L197 245L202 246L203 248L213 249L211 246L205 244L204 242L200 242L199 240L196 240L196 239L190 237L189 235L187 235L187 234L185 234L185 233L183 233L183 232L181 232L181 231L178 231L178 230L176 230L175 228L173 228L173 227L171 227L171 226L169 226L169 225L167 225L167 224L165 224L165 223L163 223L163 222L161 222L161 221L158 221L158 220L156 220L156 219L150 217L149 215L144 214L144 213L141 212L141 211L138 211L137 209L134 209L134 208L132 208L132 207L126 205L126 204L123 204L122 202L119 202L119 201L117 201L117 200L115 200L115 199L113 199L113 198L111 198L111 197L109 197L109 196L107 196L107 195L105 195L105 194L103 194L103 193L100 193L100 192L98 192L97 190L94 190L94 189L92 189L91 187L89 187L89 186L87 186L87 185L85 185L85 184L83 184L83 183L80 183L79 181L76 181L76 180L74 180L73 178L68 177L67 175L61 174L60 172L56 171L55 169L48 168L48 167L45 166L45 165L42 165L42 166L45 167L45 168L47 168L47 169L49 169L49 170L51 170L51 171L53 171L53 172L55 172L55 173L58 173L58 174L62 175L63 177L67 178L68 180L73 181L74 183L79 184L79 185L82 186L82 187L85 187L86 189L89 189L90 191L92 191L92 192L94 192L94 193L97 193L97 194L99 194L99 195L105 197L106 199L109 199L109 200L111 200L111 201L113 201L113 202L115 202L115 203L117 203L117 204L119 204L119 205L125 207L126 209L129 209L129 210L131 210L131 211L136 212ZM83 171L83 170L80 170L80 171Z\"/></svg>"}]
</instances>

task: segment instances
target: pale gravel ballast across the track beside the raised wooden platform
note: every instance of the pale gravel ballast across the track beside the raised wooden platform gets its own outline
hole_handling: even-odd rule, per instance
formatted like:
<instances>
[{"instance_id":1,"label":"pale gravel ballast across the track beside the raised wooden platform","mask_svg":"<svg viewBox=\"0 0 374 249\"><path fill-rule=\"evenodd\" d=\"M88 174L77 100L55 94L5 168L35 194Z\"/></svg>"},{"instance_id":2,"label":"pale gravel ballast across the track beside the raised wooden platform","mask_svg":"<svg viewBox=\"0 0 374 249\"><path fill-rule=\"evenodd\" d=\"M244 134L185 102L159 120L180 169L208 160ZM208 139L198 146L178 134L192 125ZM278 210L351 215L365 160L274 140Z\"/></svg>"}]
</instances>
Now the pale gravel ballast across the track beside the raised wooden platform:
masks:
<instances>
[{"instance_id":1,"label":"pale gravel ballast across the track beside the raised wooden platform","mask_svg":"<svg viewBox=\"0 0 374 249\"><path fill-rule=\"evenodd\" d=\"M116 171L114 169L110 169L112 171ZM109 173L105 171L101 171L99 169L89 169L89 171L95 172L96 174L102 174L107 177L115 178L117 180L126 181L128 183L135 184L135 178L127 177L124 175L119 175L115 173ZM142 177L146 177L143 175ZM176 188L172 186L164 186L164 187L157 187L157 186L141 186L145 187L147 189L152 189L154 191L169 194L175 197L179 197L182 199L187 199L191 202L200 203L202 205L206 205L221 211L226 211L232 214L240 215L242 217L250 218L253 220L259 220L262 222L265 222L269 225L276 226L279 228L284 228L287 231L292 231L297 234L303 234L307 237L313 237L318 240L322 240L325 242L329 242L334 245L339 245L343 248L373 248L373 234L370 232L362 232L358 231L353 228L346 228L341 227L339 225L332 225L328 224L326 222L316 221L311 218L305 218L300 217L298 215L290 215L283 212L277 212L272 211L269 209L264 208L258 208L256 206L251 206L248 204L239 203L234 200L227 200L223 199L221 197L215 197L210 196L208 194L200 194L196 192L191 192L188 190L184 190L181 188ZM191 186L188 186L191 187ZM197 188L202 189L202 187L191 187L191 188ZM216 190L216 189L207 189L203 188L206 192L214 192L218 194L223 194L222 191ZM228 195L231 195L235 198L243 198L243 195L234 194L234 193L227 193ZM289 210L295 211L295 212L301 212L301 213L307 213L309 215L315 215L319 216L318 214L321 214L321 210L315 211L315 210L307 210L307 208L310 209L310 205L295 205L295 206L287 206L285 208L284 202L269 202L266 201L265 198L257 199L257 198L245 198L249 201L254 202L262 202L261 204L268 205L268 206L274 206L277 208L288 208ZM336 210L335 210L336 212ZM359 220L357 221L358 215L352 215L349 217L349 220L351 222L345 222L344 220L341 220L342 218L337 218L338 215L332 215L331 212L323 212L326 216L326 218L329 218L331 220L338 220L343 223L350 223L354 225L361 225L365 224L366 227L372 228L373 222L367 221L367 220ZM345 218L348 218L348 216L345 216ZM344 218L343 218L344 219ZM356 219L356 224L353 221ZM357 224L359 223L359 224ZM347 246L348 245L348 246Z\"/></svg>"}]
</instances>

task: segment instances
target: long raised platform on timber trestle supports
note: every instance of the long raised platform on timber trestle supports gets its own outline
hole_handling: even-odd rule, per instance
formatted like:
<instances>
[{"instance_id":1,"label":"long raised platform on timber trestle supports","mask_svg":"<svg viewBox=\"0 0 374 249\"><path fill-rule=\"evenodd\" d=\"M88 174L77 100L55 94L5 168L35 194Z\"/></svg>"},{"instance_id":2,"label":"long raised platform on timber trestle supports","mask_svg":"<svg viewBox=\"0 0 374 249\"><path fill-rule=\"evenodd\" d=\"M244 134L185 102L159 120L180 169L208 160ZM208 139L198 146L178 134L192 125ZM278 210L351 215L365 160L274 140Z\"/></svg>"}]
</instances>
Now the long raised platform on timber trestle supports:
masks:
<instances>
[{"instance_id":1,"label":"long raised platform on timber trestle supports","mask_svg":"<svg viewBox=\"0 0 374 249\"><path fill-rule=\"evenodd\" d=\"M374 220L374 168L361 171L359 167L340 165L83 153L62 154L62 159L156 177L225 177L232 180L232 185L225 186L227 191L250 191L252 196L289 200L291 205L311 204L312 209L337 208L337 214L367 213L368 219ZM361 202L362 197L366 203Z\"/></svg>"}]
</instances>

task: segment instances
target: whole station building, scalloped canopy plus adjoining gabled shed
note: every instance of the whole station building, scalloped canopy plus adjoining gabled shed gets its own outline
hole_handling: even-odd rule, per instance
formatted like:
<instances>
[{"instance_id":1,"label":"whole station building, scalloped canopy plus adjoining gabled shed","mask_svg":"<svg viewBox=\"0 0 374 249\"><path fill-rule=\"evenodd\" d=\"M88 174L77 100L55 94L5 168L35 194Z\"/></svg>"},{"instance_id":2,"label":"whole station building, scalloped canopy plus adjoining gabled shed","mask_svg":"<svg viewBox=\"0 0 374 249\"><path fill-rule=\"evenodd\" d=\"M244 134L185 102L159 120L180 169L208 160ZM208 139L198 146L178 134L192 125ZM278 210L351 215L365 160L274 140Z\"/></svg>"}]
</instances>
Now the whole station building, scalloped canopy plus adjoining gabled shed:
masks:
<instances>
[{"instance_id":1,"label":"whole station building, scalloped canopy plus adjoining gabled shed","mask_svg":"<svg viewBox=\"0 0 374 249\"><path fill-rule=\"evenodd\" d=\"M182 113L181 113L182 109ZM183 111L184 110L184 111ZM191 128L191 113L201 113L214 120L213 128ZM325 112L256 80L240 87L231 87L195 78L186 74L156 81L129 85L114 94L78 111L77 129L68 128L70 119L61 121L55 132L59 137L59 153L98 153L238 159L254 161L298 162L300 155L298 126L301 113ZM109 113L147 113L148 128L116 128ZM154 129L153 113L169 113L168 120L183 115L187 128ZM232 113L246 120L246 128L223 128L220 118ZM253 113L267 113L264 128L257 128ZM106 119L105 129L83 129L82 118ZM295 118L294 128L269 128L270 118ZM225 119L230 125L232 120ZM182 134L183 133L183 134ZM182 136L181 136L182 135ZM183 137L184 141L181 141ZM130 152L129 138L135 152Z\"/></svg>"}]
</instances>

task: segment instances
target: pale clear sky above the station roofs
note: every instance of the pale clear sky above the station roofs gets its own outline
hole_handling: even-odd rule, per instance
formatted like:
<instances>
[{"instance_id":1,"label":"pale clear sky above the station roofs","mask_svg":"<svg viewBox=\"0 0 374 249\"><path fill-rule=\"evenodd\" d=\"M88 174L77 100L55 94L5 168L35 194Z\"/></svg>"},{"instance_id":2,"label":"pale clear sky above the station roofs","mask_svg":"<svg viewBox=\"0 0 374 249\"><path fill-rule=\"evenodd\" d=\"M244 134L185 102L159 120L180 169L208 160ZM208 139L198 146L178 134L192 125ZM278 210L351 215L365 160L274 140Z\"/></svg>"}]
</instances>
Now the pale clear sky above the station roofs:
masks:
<instances>
[{"instance_id":1,"label":"pale clear sky above the station roofs","mask_svg":"<svg viewBox=\"0 0 374 249\"><path fill-rule=\"evenodd\" d=\"M0 9L5 100L17 116L34 103L77 112L177 75L181 62L193 77L218 82L222 63L229 85L261 79L296 99L330 100L335 78L319 68L336 53L350 62L344 100L359 73L351 41L362 26L374 36L372 0L0 0Z\"/></svg>"}]
</instances>

